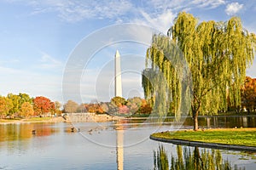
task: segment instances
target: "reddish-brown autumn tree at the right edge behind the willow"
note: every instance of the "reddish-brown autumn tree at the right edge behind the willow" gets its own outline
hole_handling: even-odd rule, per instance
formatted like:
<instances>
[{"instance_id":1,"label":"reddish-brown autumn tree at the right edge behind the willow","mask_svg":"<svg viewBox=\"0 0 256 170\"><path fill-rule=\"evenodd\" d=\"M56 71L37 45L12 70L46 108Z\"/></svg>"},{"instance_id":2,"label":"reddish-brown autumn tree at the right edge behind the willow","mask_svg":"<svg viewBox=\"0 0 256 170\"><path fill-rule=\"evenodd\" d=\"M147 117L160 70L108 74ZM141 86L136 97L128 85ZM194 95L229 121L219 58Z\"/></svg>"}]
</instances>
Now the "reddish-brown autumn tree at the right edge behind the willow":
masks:
<instances>
[{"instance_id":1,"label":"reddish-brown autumn tree at the right edge behind the willow","mask_svg":"<svg viewBox=\"0 0 256 170\"><path fill-rule=\"evenodd\" d=\"M248 112L256 108L256 78L247 77L241 88L241 106Z\"/></svg>"}]
</instances>

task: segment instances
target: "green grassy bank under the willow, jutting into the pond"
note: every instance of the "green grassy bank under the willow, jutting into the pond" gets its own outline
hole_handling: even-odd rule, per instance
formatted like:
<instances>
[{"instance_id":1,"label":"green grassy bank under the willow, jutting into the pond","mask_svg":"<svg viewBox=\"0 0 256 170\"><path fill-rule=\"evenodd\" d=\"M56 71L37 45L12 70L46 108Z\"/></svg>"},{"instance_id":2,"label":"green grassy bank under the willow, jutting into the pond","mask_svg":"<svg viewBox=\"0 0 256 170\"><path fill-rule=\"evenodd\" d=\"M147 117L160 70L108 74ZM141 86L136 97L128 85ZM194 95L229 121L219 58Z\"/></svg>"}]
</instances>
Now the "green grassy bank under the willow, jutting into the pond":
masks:
<instances>
[{"instance_id":1,"label":"green grassy bank under the willow, jutting into the pond","mask_svg":"<svg viewBox=\"0 0 256 170\"><path fill-rule=\"evenodd\" d=\"M152 136L163 139L182 139L215 144L236 144L256 147L256 128L225 128L205 131L177 131L154 133Z\"/></svg>"}]
</instances>

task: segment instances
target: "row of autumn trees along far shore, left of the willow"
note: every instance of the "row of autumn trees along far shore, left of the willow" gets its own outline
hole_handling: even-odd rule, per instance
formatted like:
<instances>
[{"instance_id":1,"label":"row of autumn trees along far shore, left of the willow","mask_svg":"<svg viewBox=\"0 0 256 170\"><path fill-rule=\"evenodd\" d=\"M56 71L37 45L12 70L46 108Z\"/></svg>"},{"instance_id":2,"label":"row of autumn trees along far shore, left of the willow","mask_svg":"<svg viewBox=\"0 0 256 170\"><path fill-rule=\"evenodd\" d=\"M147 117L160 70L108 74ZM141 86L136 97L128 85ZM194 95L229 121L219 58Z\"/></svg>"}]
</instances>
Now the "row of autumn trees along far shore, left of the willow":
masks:
<instances>
[{"instance_id":1,"label":"row of autumn trees along far shore, left of the willow","mask_svg":"<svg viewBox=\"0 0 256 170\"><path fill-rule=\"evenodd\" d=\"M32 116L61 116L62 113L96 113L109 115L145 115L152 111L145 99L134 97L124 99L113 97L110 102L77 104L68 100L61 107L59 101L51 101L44 96L36 98L28 94L8 94L0 96L0 118L30 118Z\"/></svg>"}]
</instances>

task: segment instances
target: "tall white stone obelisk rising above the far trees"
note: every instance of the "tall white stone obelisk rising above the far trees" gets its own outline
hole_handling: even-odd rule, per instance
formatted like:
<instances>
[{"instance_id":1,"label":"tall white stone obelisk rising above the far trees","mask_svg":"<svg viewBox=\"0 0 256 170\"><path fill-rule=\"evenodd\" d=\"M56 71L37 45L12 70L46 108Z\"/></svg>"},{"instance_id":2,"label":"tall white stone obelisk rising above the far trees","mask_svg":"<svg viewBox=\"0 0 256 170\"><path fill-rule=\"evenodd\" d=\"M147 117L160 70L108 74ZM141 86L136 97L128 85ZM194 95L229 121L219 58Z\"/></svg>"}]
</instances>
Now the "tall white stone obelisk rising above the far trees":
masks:
<instances>
[{"instance_id":1,"label":"tall white stone obelisk rising above the far trees","mask_svg":"<svg viewBox=\"0 0 256 170\"><path fill-rule=\"evenodd\" d=\"M122 97L122 77L119 50L114 55L114 96Z\"/></svg>"}]
</instances>

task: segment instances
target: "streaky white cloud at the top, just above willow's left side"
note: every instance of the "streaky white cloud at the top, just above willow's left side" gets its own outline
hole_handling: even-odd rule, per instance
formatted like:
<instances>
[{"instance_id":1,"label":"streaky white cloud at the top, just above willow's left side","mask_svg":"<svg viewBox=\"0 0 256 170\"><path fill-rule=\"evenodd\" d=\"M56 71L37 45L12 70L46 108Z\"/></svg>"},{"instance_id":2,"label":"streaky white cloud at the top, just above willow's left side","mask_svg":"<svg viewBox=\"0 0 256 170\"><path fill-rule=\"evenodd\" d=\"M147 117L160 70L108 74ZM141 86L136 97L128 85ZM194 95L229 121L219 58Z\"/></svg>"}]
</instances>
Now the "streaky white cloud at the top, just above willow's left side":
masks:
<instances>
[{"instance_id":1,"label":"streaky white cloud at the top, just above willow's left side","mask_svg":"<svg viewBox=\"0 0 256 170\"><path fill-rule=\"evenodd\" d=\"M193 0L189 2L186 0L151 0L145 2L143 8L139 9L140 16L132 21L152 26L166 34L179 11L189 11L193 8L217 8L224 3L224 0Z\"/></svg>"}]
</instances>

